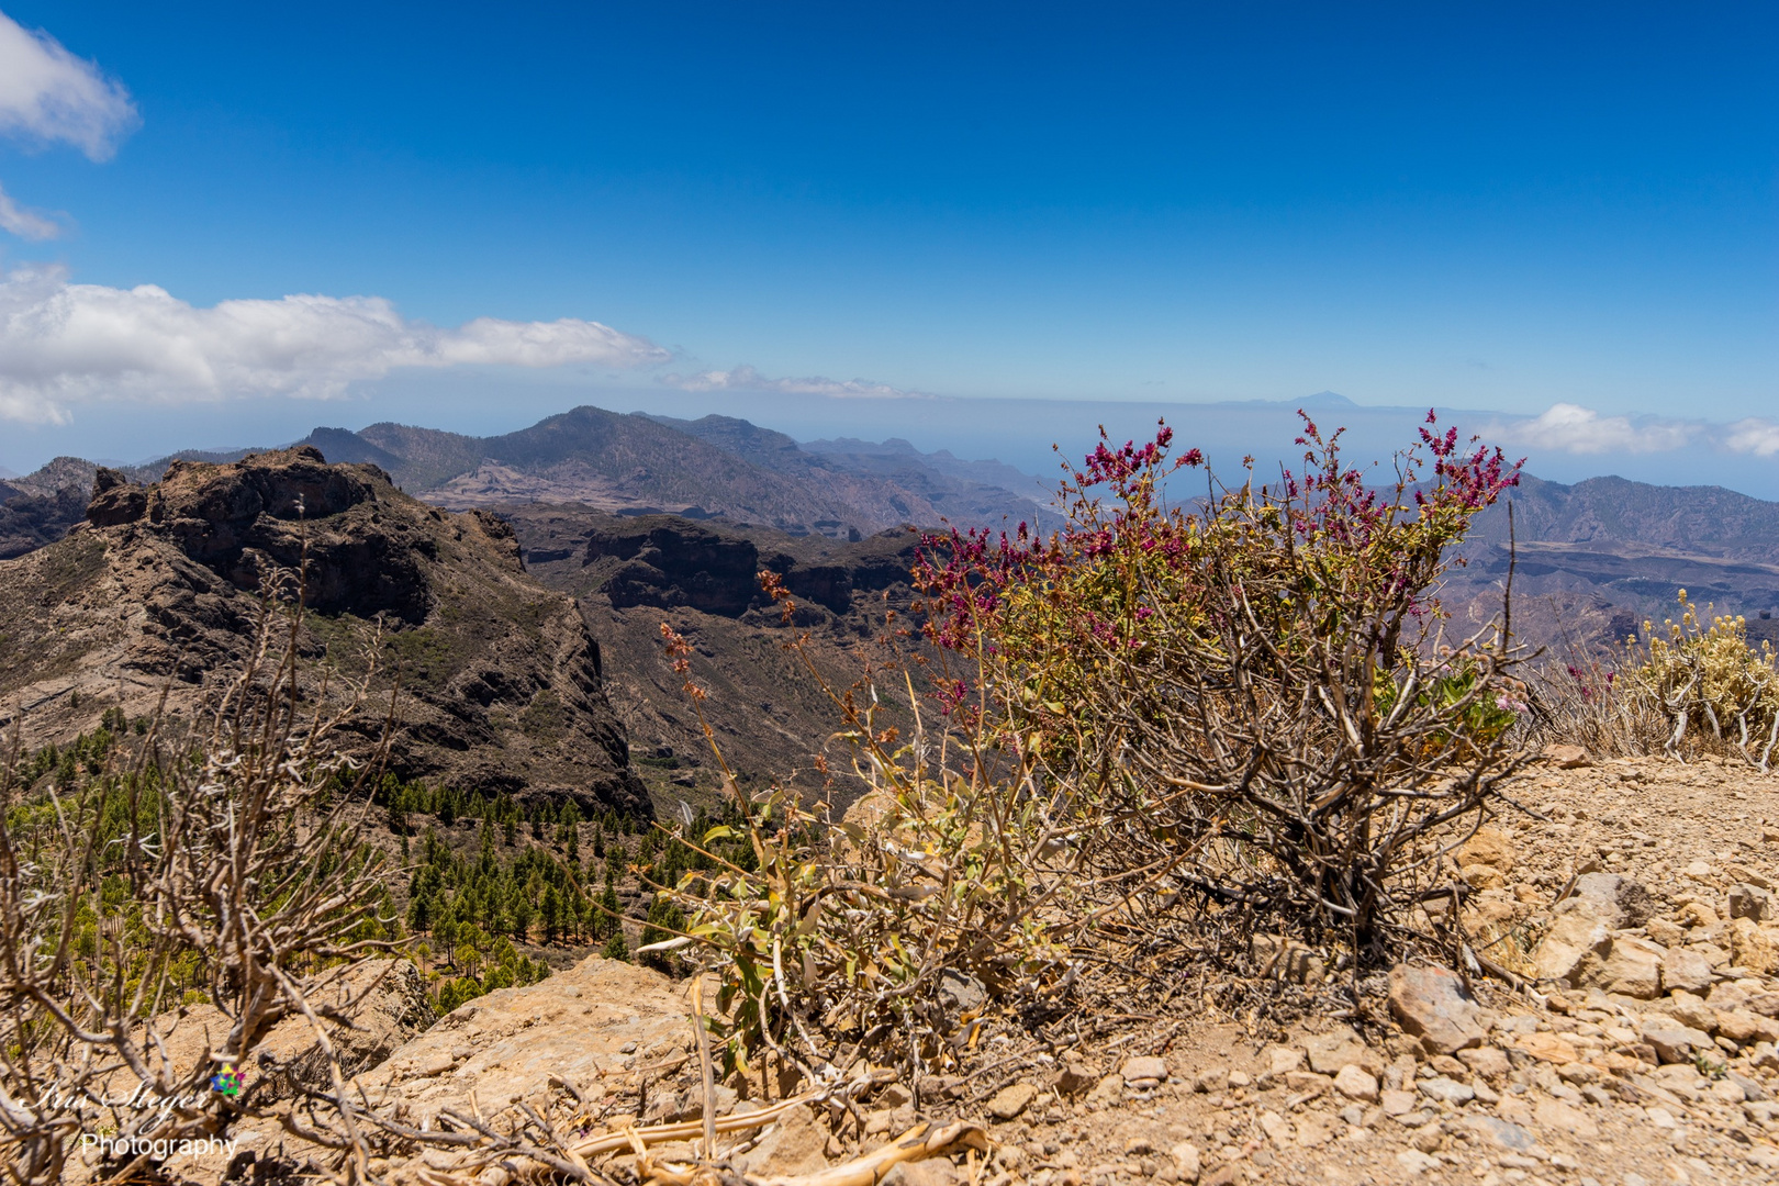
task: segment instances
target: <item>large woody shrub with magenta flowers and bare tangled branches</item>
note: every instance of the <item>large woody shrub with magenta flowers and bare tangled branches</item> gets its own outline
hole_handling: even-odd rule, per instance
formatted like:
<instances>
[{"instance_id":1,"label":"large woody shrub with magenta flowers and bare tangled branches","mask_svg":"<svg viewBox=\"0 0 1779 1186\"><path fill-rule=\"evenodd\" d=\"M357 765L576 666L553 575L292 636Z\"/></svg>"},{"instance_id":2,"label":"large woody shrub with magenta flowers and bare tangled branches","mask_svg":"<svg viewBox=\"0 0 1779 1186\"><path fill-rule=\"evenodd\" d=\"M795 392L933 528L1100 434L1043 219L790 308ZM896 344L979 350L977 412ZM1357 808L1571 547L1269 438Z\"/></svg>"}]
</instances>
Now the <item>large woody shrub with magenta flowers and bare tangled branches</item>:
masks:
<instances>
[{"instance_id":1,"label":"large woody shrub with magenta flowers and bare tangled branches","mask_svg":"<svg viewBox=\"0 0 1779 1186\"><path fill-rule=\"evenodd\" d=\"M1249 462L1240 487L1171 505L1203 455L1171 455L1165 425L1142 446L1101 434L1062 533L929 539L916 580L932 640L978 672L943 706L1062 788L1082 869L1165 869L1372 958L1423 887L1400 882L1437 871L1432 836L1519 761L1507 640L1443 645L1432 596L1517 466L1423 427L1379 489L1340 436L1304 416L1300 471L1261 484Z\"/></svg>"}]
</instances>

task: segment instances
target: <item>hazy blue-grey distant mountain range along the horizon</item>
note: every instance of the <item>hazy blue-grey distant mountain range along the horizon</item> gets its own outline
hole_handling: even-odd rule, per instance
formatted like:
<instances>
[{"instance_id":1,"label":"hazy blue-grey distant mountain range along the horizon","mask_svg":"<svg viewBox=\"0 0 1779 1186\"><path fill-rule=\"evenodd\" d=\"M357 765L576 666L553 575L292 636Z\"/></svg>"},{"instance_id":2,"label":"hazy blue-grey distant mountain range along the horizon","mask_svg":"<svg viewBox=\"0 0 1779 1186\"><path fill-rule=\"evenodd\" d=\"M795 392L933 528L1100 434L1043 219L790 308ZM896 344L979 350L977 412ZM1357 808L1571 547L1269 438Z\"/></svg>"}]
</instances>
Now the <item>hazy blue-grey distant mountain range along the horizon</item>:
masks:
<instances>
[{"instance_id":1,"label":"hazy blue-grey distant mountain range along the horizon","mask_svg":"<svg viewBox=\"0 0 1779 1186\"><path fill-rule=\"evenodd\" d=\"M1338 397L1324 397L1332 405ZM1311 400L1315 404L1315 400ZM1318 404L1320 405L1320 404ZM676 514L790 537L863 539L902 525L1041 530L1060 519L1048 489L998 461L923 453L902 439L799 443L733 416L672 420L576 407L491 437L379 423L317 429L329 461L370 462L397 485L452 510L573 503L619 516ZM169 461L226 462L249 450L180 453L135 466L158 478ZM59 539L80 519L94 464L59 457L0 480L0 558ZM1525 477L1512 496L1521 626L1544 638L1622 637L1669 615L1676 590L1745 613L1779 637L1779 503L1722 487L1589 478L1574 485ZM1509 567L1505 505L1480 516L1452 574L1448 603L1473 619L1500 605Z\"/></svg>"}]
</instances>

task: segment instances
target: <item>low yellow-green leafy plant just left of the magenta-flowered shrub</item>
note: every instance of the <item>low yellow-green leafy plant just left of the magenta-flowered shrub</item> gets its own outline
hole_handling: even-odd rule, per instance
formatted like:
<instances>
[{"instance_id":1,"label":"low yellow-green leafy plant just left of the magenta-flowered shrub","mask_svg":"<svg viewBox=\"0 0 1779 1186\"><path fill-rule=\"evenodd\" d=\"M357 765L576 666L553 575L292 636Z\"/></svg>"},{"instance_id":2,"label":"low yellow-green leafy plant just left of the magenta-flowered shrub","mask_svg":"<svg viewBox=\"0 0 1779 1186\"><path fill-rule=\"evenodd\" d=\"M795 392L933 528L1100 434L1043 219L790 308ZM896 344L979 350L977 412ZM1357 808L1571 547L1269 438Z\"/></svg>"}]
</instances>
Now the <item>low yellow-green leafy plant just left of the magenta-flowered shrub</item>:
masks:
<instances>
[{"instance_id":1,"label":"low yellow-green leafy plant just left of the magenta-flowered shrub","mask_svg":"<svg viewBox=\"0 0 1779 1186\"><path fill-rule=\"evenodd\" d=\"M761 578L783 599L772 574ZM687 674L687 644L662 631ZM914 701L906 677L904 688ZM697 706L703 690L688 679L687 692ZM847 1069L840 1051L870 1049L918 1083L968 1042L980 1010L970 985L984 1001L1041 994L1066 976L1069 937L1087 925L1069 909L1071 871L1048 859L1062 845L1030 793L1030 763L980 734L929 734L918 702L904 740L879 727L877 697L834 695L865 811L834 820L785 789L747 797L729 775L742 821L696 837L712 868L665 891L688 921L681 939L655 946L696 942L717 973L712 1024L728 1070L765 1058L824 1081ZM751 868L722 855L737 839Z\"/></svg>"}]
</instances>

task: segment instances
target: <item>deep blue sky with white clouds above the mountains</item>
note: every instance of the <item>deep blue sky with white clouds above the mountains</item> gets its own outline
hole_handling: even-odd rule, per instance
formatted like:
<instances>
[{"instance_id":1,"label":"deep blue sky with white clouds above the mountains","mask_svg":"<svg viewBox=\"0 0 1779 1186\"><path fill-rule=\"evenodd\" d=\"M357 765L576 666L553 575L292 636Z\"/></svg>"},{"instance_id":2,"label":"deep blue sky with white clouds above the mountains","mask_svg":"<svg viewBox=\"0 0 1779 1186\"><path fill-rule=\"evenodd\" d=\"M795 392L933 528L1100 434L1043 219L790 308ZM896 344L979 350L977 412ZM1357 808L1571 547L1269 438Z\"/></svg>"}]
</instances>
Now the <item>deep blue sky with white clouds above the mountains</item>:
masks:
<instances>
[{"instance_id":1,"label":"deep blue sky with white clouds above the mountains","mask_svg":"<svg viewBox=\"0 0 1779 1186\"><path fill-rule=\"evenodd\" d=\"M1779 496L1779 9L1553 7L0 0L87 71L0 80L0 464L1336 389Z\"/></svg>"}]
</instances>

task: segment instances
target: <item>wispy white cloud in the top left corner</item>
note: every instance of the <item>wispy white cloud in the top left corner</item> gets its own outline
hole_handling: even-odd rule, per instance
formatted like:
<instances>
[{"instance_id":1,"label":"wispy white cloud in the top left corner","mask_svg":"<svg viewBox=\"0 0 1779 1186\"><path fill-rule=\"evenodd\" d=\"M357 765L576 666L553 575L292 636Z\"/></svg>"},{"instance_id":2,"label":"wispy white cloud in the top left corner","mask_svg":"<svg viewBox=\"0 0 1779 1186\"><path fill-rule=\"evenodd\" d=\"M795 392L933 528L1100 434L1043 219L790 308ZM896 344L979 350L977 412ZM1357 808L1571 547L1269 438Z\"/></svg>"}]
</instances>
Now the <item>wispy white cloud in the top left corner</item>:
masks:
<instances>
[{"instance_id":1,"label":"wispy white cloud in the top left corner","mask_svg":"<svg viewBox=\"0 0 1779 1186\"><path fill-rule=\"evenodd\" d=\"M46 32L0 12L0 132L109 158L139 123L130 92Z\"/></svg>"}]
</instances>

